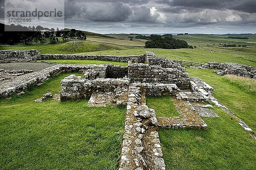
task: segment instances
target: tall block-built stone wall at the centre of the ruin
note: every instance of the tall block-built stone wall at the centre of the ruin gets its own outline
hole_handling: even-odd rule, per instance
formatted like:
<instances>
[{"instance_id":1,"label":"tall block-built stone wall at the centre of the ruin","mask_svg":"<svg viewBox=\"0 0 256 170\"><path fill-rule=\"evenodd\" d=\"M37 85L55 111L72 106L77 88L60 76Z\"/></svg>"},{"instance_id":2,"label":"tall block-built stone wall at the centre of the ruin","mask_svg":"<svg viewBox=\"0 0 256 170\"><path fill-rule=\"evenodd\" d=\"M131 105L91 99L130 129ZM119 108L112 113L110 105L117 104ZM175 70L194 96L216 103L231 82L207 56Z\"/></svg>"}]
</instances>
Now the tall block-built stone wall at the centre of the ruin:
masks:
<instances>
[{"instance_id":1,"label":"tall block-built stone wall at the centre of the ruin","mask_svg":"<svg viewBox=\"0 0 256 170\"><path fill-rule=\"evenodd\" d=\"M177 68L128 62L128 77L131 82L176 84L180 89L190 88L189 74Z\"/></svg>"}]
</instances>

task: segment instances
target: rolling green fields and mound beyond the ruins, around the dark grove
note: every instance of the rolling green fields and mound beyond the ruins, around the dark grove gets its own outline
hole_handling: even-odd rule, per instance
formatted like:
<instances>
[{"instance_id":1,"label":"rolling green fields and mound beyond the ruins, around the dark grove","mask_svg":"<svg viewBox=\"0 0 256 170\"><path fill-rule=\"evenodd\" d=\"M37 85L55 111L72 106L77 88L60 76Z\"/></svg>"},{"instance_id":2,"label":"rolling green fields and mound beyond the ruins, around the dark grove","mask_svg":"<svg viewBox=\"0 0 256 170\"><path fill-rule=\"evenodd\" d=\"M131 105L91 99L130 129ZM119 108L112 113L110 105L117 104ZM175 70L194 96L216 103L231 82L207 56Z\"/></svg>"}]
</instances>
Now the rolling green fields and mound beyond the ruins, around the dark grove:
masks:
<instances>
[{"instance_id":1,"label":"rolling green fields and mound beyond the ruins, around the dark grove","mask_svg":"<svg viewBox=\"0 0 256 170\"><path fill-rule=\"evenodd\" d=\"M186 40L189 45L197 46L196 49L145 49L145 40L128 37L130 34L96 34L87 32L88 41L70 41L55 45L36 46L12 46L0 47L3 49L37 49L41 53L67 53L67 54L111 54L111 55L134 55L144 54L145 51L153 51L158 56L169 59L185 60L190 62L236 62L256 67L256 35L244 35L248 40L225 39L226 35L188 34L174 36ZM237 41L237 42L236 42ZM250 42L250 43L248 43ZM219 44L246 44L250 47L219 47ZM127 46L125 46L127 45ZM138 47L141 46L141 47Z\"/></svg>"}]
</instances>

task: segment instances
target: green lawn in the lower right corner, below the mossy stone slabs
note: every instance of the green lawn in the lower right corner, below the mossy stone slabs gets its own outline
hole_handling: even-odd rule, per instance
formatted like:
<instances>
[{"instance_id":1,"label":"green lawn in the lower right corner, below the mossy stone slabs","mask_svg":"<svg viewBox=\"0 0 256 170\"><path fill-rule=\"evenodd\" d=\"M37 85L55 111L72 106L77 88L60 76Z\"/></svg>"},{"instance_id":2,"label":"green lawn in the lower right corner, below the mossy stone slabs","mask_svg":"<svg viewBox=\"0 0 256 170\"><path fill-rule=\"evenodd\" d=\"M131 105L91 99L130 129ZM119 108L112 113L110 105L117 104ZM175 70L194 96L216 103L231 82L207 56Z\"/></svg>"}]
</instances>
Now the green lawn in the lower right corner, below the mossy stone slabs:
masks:
<instances>
[{"instance_id":1,"label":"green lawn in the lower right corner, below the mossy stone slabs","mask_svg":"<svg viewBox=\"0 0 256 170\"><path fill-rule=\"evenodd\" d=\"M167 170L253 170L256 140L236 120L214 107L207 130L159 128Z\"/></svg>"}]
</instances>

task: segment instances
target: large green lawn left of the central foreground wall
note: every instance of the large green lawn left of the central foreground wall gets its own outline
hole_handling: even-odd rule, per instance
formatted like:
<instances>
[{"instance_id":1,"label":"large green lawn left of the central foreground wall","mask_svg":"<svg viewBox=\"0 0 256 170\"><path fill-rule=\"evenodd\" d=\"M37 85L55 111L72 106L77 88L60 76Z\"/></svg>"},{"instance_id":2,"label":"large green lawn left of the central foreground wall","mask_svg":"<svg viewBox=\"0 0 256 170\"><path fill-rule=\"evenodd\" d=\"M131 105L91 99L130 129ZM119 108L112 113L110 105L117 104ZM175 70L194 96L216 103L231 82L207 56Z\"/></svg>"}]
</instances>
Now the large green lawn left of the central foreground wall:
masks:
<instances>
[{"instance_id":1,"label":"large green lawn left of the central foreground wall","mask_svg":"<svg viewBox=\"0 0 256 170\"><path fill-rule=\"evenodd\" d=\"M125 108L89 108L87 99L34 102L58 94L68 75L0 99L0 169L117 169Z\"/></svg>"}]
</instances>

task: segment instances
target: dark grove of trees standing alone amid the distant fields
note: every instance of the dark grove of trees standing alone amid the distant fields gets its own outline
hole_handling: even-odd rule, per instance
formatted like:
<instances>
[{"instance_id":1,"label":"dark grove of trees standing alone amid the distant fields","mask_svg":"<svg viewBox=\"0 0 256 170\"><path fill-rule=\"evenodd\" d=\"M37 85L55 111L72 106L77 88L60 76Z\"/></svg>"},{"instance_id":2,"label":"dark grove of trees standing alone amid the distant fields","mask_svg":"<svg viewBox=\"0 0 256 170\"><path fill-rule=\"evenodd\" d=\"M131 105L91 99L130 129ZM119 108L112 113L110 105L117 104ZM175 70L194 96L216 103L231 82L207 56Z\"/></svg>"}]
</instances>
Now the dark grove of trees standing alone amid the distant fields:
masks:
<instances>
[{"instance_id":1,"label":"dark grove of trees standing alone amid the distant fields","mask_svg":"<svg viewBox=\"0 0 256 170\"><path fill-rule=\"evenodd\" d=\"M178 49L178 48L193 48L192 45L184 40L178 40L172 36L150 35L149 41L145 42L145 48L163 48L163 49Z\"/></svg>"}]
</instances>

